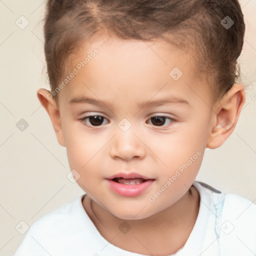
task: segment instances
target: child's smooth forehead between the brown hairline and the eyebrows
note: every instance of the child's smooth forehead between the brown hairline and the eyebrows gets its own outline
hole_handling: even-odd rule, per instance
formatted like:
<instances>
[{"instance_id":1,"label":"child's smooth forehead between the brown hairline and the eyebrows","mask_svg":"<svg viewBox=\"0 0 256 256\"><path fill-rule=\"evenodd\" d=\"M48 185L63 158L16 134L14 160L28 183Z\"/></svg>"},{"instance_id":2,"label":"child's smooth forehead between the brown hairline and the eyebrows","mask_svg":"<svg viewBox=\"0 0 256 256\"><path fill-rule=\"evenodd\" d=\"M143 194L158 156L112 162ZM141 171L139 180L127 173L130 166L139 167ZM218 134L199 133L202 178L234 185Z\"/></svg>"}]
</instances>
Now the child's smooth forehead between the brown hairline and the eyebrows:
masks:
<instances>
[{"instance_id":1,"label":"child's smooth forehead between the brown hairline and the eyebrows","mask_svg":"<svg viewBox=\"0 0 256 256\"><path fill-rule=\"evenodd\" d=\"M125 100L128 97L150 99L154 94L170 92L189 99L190 86L198 87L203 82L198 81L195 74L193 55L194 52L182 51L159 39L150 42L113 37L90 40L81 44L69 62L67 75L74 68L77 74L60 94L65 101L88 93L94 97L111 98L112 95L112 99Z\"/></svg>"}]
</instances>

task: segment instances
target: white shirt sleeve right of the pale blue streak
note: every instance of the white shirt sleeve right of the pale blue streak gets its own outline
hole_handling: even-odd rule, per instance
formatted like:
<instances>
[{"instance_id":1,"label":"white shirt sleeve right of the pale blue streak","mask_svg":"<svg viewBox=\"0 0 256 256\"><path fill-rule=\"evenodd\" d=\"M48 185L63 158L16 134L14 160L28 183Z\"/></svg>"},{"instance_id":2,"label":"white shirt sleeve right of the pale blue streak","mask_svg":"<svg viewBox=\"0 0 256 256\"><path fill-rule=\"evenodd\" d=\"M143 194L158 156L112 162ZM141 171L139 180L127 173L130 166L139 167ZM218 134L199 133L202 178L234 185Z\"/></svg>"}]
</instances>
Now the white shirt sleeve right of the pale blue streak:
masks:
<instances>
[{"instance_id":1,"label":"white shirt sleeve right of the pale blue streak","mask_svg":"<svg viewBox=\"0 0 256 256\"><path fill-rule=\"evenodd\" d=\"M256 254L256 205L252 201L237 194L226 194L220 245L222 255Z\"/></svg>"}]
</instances>

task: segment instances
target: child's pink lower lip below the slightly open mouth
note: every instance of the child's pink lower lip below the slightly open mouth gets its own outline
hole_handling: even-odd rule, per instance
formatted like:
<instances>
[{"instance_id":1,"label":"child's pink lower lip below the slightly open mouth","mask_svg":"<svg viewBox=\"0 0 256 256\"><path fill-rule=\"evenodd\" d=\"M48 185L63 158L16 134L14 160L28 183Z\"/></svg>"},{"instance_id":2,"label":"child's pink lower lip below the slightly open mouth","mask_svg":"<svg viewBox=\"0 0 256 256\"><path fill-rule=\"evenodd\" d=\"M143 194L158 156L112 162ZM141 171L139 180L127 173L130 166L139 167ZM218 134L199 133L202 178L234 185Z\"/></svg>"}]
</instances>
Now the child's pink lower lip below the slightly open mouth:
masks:
<instances>
[{"instance_id":1,"label":"child's pink lower lip below the slightly open mouth","mask_svg":"<svg viewBox=\"0 0 256 256\"><path fill-rule=\"evenodd\" d=\"M149 187L154 179L148 179L143 183L128 185L128 184L120 184L112 179L107 179L109 186L112 190L114 190L117 194L122 196L137 196L141 194L147 187Z\"/></svg>"}]
</instances>

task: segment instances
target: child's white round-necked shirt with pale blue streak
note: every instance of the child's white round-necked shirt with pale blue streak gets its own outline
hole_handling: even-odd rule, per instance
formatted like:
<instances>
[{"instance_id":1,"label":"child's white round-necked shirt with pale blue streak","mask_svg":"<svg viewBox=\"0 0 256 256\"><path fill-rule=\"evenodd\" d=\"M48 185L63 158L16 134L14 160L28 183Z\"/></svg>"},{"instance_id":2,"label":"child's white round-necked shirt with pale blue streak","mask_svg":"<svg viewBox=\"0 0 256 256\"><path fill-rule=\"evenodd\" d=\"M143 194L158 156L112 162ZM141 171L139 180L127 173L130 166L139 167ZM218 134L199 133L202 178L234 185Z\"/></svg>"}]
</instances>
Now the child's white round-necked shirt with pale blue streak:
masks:
<instances>
[{"instance_id":1,"label":"child's white round-necked shirt with pale blue streak","mask_svg":"<svg viewBox=\"0 0 256 256\"><path fill-rule=\"evenodd\" d=\"M192 185L200 195L198 216L185 245L171 256L256 254L256 205L199 181ZM145 256L108 242L84 210L83 196L33 223L14 256Z\"/></svg>"}]
</instances>

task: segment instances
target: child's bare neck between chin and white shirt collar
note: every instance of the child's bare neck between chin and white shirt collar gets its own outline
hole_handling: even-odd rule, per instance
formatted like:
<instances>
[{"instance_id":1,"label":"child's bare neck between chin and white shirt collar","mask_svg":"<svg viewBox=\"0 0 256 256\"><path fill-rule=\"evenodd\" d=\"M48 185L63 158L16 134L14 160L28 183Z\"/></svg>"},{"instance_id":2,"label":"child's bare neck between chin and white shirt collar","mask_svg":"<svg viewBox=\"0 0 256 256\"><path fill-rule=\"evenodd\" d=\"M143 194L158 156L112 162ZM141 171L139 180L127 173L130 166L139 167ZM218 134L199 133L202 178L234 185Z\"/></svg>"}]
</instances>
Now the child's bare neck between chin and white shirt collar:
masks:
<instances>
[{"instance_id":1,"label":"child's bare neck between chin and white shirt collar","mask_svg":"<svg viewBox=\"0 0 256 256\"><path fill-rule=\"evenodd\" d=\"M142 254L176 252L185 244L199 210L199 193L193 186L171 206L143 219L118 218L85 197L84 209L101 235L117 247ZM124 221L132 228L122 235L119 225Z\"/></svg>"}]
</instances>

